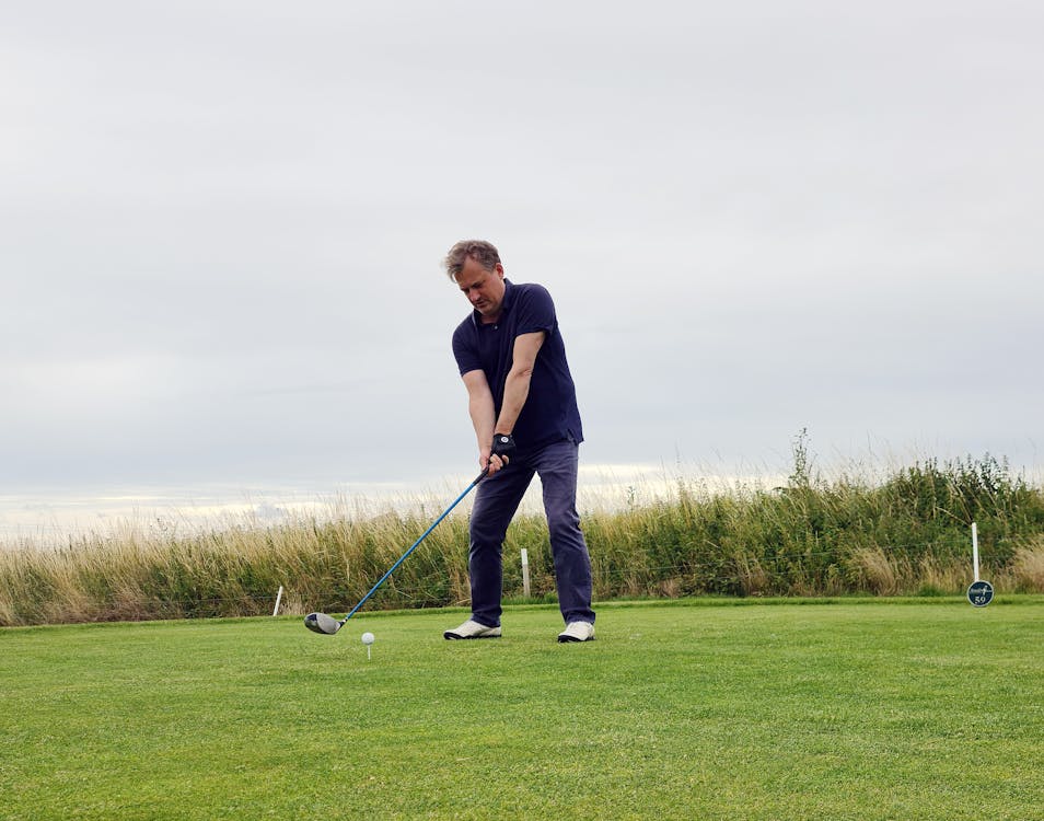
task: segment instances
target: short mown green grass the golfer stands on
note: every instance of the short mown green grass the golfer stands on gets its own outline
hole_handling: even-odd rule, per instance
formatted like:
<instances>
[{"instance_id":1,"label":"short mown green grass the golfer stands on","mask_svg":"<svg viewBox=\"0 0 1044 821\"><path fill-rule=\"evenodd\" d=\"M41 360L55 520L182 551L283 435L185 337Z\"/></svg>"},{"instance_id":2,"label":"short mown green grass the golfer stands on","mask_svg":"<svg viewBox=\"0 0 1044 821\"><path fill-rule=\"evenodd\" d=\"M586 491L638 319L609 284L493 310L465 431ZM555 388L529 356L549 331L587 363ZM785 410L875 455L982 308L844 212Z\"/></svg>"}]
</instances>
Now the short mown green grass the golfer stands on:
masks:
<instances>
[{"instance_id":1,"label":"short mown green grass the golfer stands on","mask_svg":"<svg viewBox=\"0 0 1044 821\"><path fill-rule=\"evenodd\" d=\"M1044 817L1042 597L465 616L0 631L0 817Z\"/></svg>"}]
</instances>

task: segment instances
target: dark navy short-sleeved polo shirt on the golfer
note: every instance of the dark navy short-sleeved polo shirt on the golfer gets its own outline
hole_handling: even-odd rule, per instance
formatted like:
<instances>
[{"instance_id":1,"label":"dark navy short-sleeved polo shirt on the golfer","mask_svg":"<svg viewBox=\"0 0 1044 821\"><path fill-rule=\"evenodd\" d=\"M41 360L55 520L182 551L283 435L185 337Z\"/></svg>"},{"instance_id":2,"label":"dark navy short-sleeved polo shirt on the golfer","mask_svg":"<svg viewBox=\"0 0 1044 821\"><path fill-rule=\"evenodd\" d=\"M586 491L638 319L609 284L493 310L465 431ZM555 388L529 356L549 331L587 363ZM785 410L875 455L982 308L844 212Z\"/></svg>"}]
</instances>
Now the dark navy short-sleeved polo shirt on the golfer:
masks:
<instances>
[{"instance_id":1,"label":"dark navy short-sleeved polo shirt on the golfer","mask_svg":"<svg viewBox=\"0 0 1044 821\"><path fill-rule=\"evenodd\" d=\"M562 439L583 441L577 389L569 373L566 346L558 332L550 294L543 286L513 285L506 279L500 319L484 324L482 314L473 311L453 332L453 356L461 375L474 370L486 374L499 417L514 339L536 331L545 333L544 344L536 354L530 392L511 431L520 451Z\"/></svg>"}]
</instances>

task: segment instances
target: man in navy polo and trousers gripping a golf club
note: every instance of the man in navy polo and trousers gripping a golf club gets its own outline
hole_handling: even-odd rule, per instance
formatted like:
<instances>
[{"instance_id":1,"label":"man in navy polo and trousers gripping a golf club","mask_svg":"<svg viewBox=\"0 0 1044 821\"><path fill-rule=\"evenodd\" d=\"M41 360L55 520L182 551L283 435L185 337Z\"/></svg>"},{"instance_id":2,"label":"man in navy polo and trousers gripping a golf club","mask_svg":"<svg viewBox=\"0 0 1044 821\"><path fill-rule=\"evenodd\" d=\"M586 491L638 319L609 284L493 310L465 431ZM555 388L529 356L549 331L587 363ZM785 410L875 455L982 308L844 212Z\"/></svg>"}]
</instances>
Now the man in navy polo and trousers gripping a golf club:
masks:
<instances>
[{"instance_id":1,"label":"man in navy polo and trousers gripping a golf club","mask_svg":"<svg viewBox=\"0 0 1044 821\"><path fill-rule=\"evenodd\" d=\"M558 640L590 641L591 559L577 513L583 431L555 305L543 287L504 279L500 255L488 242L456 243L445 269L473 308L453 334L453 355L467 389L478 462L488 473L469 524L472 617L443 635L500 636L504 534L538 474L566 622Z\"/></svg>"}]
</instances>

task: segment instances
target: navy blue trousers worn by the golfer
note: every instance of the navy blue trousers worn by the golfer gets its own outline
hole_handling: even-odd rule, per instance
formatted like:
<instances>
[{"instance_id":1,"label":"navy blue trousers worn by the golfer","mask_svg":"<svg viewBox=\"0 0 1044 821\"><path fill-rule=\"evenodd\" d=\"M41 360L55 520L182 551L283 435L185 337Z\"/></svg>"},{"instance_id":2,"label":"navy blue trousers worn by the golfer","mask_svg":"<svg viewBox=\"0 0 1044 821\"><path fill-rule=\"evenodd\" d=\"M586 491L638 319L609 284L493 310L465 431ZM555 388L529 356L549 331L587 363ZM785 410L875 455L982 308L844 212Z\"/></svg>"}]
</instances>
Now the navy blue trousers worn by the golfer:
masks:
<instances>
[{"instance_id":1,"label":"navy blue trousers worn by the golfer","mask_svg":"<svg viewBox=\"0 0 1044 821\"><path fill-rule=\"evenodd\" d=\"M562 618L594 623L591 610L591 557L577 512L579 446L570 440L512 456L506 469L478 485L469 525L468 573L472 618L487 627L500 624L503 540L533 476L544 487L544 512L555 560L555 585Z\"/></svg>"}]
</instances>

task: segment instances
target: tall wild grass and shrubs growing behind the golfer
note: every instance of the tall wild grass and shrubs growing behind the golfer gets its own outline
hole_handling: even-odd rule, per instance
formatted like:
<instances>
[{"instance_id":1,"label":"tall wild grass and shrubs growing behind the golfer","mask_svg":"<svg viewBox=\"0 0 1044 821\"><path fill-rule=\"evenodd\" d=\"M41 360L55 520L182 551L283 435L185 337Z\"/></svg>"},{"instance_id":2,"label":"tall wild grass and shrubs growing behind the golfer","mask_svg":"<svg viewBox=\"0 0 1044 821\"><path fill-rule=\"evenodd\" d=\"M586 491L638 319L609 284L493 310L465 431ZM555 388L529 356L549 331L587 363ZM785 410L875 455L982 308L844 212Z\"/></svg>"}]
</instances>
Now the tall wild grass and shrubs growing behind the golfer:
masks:
<instances>
[{"instance_id":1,"label":"tall wild grass and shrubs growing behind the golfer","mask_svg":"<svg viewBox=\"0 0 1044 821\"><path fill-rule=\"evenodd\" d=\"M271 612L280 587L283 612L347 612L445 504L418 500L375 516L334 510L269 527L223 522L187 533L163 522L130 523L57 544L0 545L0 626L260 615ZM464 507L368 608L468 601ZM600 601L958 594L972 580L972 522L983 578L999 593L1044 592L1044 489L988 455L925 460L882 478L826 479L798 439L781 486L709 489L680 478L661 494L628 492L582 514ZM504 556L508 600L554 600L542 516L515 519Z\"/></svg>"}]
</instances>

